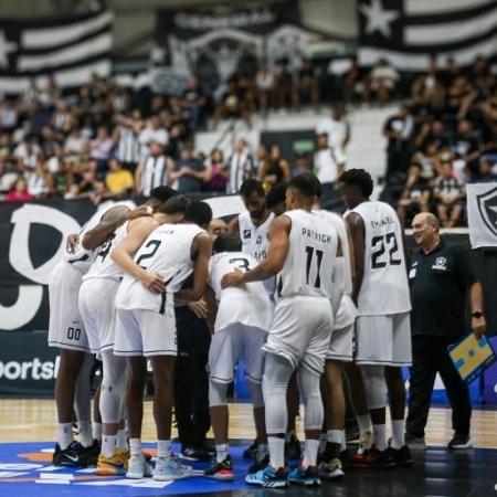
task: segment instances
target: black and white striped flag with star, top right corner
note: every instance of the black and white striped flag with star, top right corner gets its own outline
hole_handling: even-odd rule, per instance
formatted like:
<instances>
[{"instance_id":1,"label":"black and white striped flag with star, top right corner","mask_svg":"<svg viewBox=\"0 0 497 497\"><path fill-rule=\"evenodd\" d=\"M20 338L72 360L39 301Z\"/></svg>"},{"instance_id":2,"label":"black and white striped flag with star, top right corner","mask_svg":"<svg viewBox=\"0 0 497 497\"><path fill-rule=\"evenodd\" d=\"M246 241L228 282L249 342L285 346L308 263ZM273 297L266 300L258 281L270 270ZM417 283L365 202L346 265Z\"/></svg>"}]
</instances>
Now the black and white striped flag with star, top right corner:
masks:
<instances>
[{"instance_id":1,"label":"black and white striped flag with star, top right corner","mask_svg":"<svg viewBox=\"0 0 497 497\"><path fill-rule=\"evenodd\" d=\"M358 12L364 65L383 56L420 71L430 54L467 65L497 53L496 0L358 0Z\"/></svg>"}]
</instances>

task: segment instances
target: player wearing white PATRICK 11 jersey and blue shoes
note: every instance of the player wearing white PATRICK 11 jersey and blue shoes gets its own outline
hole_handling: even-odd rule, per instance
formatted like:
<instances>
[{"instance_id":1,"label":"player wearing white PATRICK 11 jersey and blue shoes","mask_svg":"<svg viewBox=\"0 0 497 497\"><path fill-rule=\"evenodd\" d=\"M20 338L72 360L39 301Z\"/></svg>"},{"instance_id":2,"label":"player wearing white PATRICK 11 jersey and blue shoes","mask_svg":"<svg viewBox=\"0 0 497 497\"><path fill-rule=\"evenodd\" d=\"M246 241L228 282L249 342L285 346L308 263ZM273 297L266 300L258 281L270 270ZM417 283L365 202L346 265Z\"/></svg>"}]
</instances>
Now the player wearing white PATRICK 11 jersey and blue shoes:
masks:
<instances>
[{"instance_id":1,"label":"player wearing white PATRICK 11 jersey and blue shoes","mask_svg":"<svg viewBox=\"0 0 497 497\"><path fill-rule=\"evenodd\" d=\"M296 176L289 181L286 190L289 211L271 223L267 258L254 269L230 273L222 279L223 287L229 287L277 275L278 300L263 347L271 464L245 478L264 487L284 488L288 482L320 484L317 452L324 412L319 380L332 329L330 300L337 309L343 290L343 257L336 231L311 212L316 181L314 175ZM306 443L300 465L288 475L284 467L286 389L294 370L305 402Z\"/></svg>"}]
</instances>

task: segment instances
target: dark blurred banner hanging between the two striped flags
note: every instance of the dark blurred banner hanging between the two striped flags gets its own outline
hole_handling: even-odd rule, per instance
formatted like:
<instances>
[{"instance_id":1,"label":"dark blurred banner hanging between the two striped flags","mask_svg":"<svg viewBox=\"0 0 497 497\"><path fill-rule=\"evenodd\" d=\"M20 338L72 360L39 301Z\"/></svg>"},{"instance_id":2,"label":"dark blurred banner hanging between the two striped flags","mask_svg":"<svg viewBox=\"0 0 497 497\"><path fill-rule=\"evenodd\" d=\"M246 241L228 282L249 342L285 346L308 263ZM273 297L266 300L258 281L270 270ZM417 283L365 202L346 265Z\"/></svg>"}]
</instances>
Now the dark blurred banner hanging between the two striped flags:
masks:
<instances>
[{"instance_id":1,"label":"dark blurred banner hanging between the two striped flags","mask_svg":"<svg viewBox=\"0 0 497 497\"><path fill-rule=\"evenodd\" d=\"M297 0L233 3L157 12L156 88L179 93L181 82L195 74L204 89L213 91L236 70L255 74L262 59L292 63L309 43L326 38L302 25Z\"/></svg>"}]
</instances>

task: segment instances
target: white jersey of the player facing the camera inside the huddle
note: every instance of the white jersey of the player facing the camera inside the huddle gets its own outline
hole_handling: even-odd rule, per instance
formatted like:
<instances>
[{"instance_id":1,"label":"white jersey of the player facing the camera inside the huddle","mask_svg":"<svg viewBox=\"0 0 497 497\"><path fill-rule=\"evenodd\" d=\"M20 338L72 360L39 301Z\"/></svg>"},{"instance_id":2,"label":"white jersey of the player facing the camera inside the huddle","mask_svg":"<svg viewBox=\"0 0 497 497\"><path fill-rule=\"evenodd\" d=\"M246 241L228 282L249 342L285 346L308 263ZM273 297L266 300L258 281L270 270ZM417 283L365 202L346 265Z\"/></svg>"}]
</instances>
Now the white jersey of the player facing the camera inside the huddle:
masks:
<instances>
[{"instance_id":1,"label":"white jersey of the player facing the camera inside the huddle","mask_svg":"<svg viewBox=\"0 0 497 497\"><path fill-rule=\"evenodd\" d=\"M269 241L267 240L267 230L274 219L272 212L260 226L255 226L252 222L248 211L239 215L240 240L242 241L242 252L251 254L255 261L261 262L267 257ZM267 278L264 281L264 287L269 296L274 295L276 289L276 278Z\"/></svg>"}]
</instances>

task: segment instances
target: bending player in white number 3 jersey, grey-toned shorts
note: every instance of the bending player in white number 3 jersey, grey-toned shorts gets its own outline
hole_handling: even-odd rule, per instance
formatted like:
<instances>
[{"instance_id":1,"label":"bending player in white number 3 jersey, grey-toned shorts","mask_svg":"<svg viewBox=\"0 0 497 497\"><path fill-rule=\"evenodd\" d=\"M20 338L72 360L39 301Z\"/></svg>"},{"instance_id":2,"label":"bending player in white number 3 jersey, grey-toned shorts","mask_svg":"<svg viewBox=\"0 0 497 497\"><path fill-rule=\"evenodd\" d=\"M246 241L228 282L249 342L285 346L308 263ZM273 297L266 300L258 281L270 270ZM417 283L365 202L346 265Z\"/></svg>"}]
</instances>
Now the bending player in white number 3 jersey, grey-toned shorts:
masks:
<instances>
[{"instance_id":1,"label":"bending player in white number 3 jersey, grey-toned shorts","mask_svg":"<svg viewBox=\"0 0 497 497\"><path fill-rule=\"evenodd\" d=\"M262 346L271 324L272 304L262 282L221 288L225 274L235 269L253 269L257 265L255 258L241 252L241 248L242 243L235 234L221 235L215 240L205 294L210 309L208 322L213 332L209 349L209 405L216 459L204 470L204 475L222 482L234 479L228 447L226 392L239 360L245 363L246 384L252 394L258 461L267 457L261 383L264 370ZM265 467L267 464L263 465Z\"/></svg>"}]
</instances>

